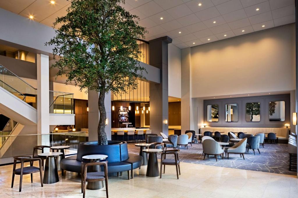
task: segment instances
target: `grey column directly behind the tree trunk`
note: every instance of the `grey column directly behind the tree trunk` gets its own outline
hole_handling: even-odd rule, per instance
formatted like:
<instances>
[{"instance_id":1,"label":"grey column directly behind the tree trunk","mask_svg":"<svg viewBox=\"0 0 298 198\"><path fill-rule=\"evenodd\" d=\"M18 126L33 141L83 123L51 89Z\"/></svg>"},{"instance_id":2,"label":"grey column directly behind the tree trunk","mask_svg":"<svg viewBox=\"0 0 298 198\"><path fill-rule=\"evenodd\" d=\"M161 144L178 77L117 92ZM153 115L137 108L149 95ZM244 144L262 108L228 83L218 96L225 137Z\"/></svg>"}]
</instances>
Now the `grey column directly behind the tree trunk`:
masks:
<instances>
[{"instance_id":1,"label":"grey column directly behind the tree trunk","mask_svg":"<svg viewBox=\"0 0 298 198\"><path fill-rule=\"evenodd\" d=\"M89 141L97 141L97 127L99 122L98 92L88 91L88 131ZM111 140L111 92L105 95L105 112L108 118L108 125L105 125L105 133L108 140Z\"/></svg>"}]
</instances>

